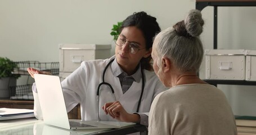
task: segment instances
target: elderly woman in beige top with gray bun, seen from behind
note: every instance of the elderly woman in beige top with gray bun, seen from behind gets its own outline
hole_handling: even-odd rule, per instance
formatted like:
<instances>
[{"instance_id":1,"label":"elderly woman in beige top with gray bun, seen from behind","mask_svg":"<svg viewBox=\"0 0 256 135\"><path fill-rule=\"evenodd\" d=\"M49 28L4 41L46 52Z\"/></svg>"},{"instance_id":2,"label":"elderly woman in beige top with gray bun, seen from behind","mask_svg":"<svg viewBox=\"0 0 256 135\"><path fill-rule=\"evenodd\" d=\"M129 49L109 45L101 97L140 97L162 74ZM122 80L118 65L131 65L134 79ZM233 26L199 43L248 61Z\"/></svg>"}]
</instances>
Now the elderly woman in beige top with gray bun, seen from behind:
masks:
<instances>
[{"instance_id":1,"label":"elderly woman in beige top with gray bun, seen from behind","mask_svg":"<svg viewBox=\"0 0 256 135\"><path fill-rule=\"evenodd\" d=\"M191 10L185 20L156 35L153 68L171 87L152 102L149 134L237 134L232 109L223 92L199 77L203 46L201 13Z\"/></svg>"}]
</instances>

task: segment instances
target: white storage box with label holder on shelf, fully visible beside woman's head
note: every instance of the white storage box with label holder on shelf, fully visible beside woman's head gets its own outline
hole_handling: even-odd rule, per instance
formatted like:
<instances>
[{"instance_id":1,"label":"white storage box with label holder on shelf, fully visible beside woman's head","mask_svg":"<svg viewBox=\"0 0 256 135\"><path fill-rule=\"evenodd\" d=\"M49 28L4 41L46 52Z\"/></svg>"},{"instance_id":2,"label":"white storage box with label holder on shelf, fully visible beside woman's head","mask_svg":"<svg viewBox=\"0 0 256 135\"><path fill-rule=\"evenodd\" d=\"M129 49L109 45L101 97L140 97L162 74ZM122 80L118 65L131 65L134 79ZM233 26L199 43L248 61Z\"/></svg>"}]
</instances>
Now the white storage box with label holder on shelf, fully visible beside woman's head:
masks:
<instances>
[{"instance_id":1,"label":"white storage box with label holder on shelf, fully visible beside woman's head","mask_svg":"<svg viewBox=\"0 0 256 135\"><path fill-rule=\"evenodd\" d=\"M245 80L245 50L205 50L206 79Z\"/></svg>"}]
</instances>

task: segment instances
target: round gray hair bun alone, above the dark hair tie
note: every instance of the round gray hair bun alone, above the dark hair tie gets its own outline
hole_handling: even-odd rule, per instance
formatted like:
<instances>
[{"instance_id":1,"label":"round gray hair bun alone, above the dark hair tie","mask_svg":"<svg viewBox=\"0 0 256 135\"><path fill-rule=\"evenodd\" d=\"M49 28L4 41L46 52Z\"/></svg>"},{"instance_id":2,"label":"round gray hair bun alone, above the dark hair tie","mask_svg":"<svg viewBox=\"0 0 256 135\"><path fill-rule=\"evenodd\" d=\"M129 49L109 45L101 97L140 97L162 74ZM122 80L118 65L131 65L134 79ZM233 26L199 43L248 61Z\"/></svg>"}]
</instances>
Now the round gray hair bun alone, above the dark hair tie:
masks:
<instances>
[{"instance_id":1,"label":"round gray hair bun alone, above the dark hair tie","mask_svg":"<svg viewBox=\"0 0 256 135\"><path fill-rule=\"evenodd\" d=\"M192 37L199 36L203 32L204 20L199 10L191 10L184 22L187 33Z\"/></svg>"}]
</instances>

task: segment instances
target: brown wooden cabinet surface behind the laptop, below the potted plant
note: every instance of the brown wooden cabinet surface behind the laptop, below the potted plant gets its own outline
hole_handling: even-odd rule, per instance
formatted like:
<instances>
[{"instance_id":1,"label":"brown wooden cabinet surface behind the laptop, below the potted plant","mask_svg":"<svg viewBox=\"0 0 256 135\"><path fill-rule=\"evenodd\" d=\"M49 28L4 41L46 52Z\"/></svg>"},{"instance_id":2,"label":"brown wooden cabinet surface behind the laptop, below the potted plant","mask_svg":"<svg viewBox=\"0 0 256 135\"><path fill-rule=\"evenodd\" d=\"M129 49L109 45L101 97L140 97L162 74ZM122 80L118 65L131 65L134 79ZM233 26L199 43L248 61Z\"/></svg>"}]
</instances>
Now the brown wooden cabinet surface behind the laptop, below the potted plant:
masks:
<instances>
[{"instance_id":1,"label":"brown wooden cabinet surface behind the laptop, below the potted plant","mask_svg":"<svg viewBox=\"0 0 256 135\"><path fill-rule=\"evenodd\" d=\"M0 108L34 109L32 100L0 99ZM80 105L77 105L68 113L69 119L81 119Z\"/></svg>"}]
</instances>

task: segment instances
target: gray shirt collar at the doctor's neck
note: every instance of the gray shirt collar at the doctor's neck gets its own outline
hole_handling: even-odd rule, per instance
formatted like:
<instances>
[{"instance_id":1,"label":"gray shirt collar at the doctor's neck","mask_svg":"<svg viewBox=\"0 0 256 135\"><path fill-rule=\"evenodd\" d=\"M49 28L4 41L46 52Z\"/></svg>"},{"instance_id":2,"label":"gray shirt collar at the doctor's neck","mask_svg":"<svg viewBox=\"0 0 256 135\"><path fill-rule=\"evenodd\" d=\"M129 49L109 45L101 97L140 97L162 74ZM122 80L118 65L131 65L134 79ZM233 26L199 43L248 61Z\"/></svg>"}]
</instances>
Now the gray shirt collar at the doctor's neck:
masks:
<instances>
[{"instance_id":1,"label":"gray shirt collar at the doctor's neck","mask_svg":"<svg viewBox=\"0 0 256 135\"><path fill-rule=\"evenodd\" d=\"M113 63L111 64L111 69L112 69L112 73L115 77L118 77L118 75L122 74L124 71L120 68L120 66L118 65L118 62L116 61L116 59L113 61ZM139 67L137 69L137 71L131 75L133 77L133 79L139 83L141 80L141 64L139 64Z\"/></svg>"}]
</instances>

